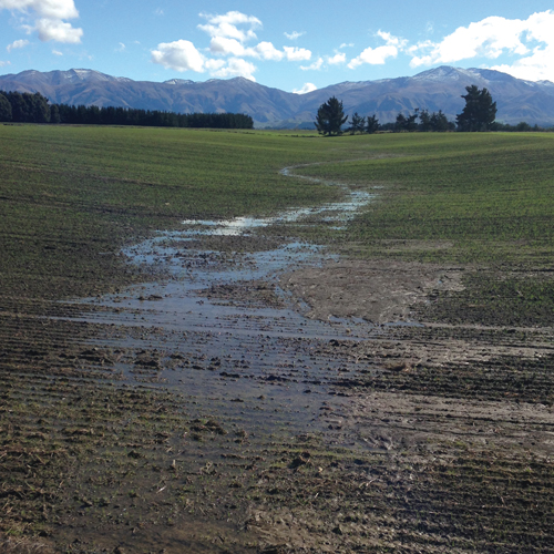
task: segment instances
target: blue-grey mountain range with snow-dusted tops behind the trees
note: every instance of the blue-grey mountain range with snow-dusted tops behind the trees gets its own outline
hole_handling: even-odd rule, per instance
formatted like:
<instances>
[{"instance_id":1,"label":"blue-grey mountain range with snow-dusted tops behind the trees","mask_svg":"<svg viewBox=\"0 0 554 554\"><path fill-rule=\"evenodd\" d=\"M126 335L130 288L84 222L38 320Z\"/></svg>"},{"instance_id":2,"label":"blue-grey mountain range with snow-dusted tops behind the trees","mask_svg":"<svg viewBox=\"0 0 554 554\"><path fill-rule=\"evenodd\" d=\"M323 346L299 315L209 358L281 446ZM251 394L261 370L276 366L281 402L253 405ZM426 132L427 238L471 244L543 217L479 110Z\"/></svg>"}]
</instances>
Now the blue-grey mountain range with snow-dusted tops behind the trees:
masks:
<instances>
[{"instance_id":1,"label":"blue-grey mountain range with snow-dusted tops behind the trees","mask_svg":"<svg viewBox=\"0 0 554 554\"><path fill-rule=\"evenodd\" d=\"M234 112L250 115L257 127L312 129L320 104L335 95L348 114L377 114L380 123L394 121L416 107L442 110L451 120L463 109L465 86L485 86L497 103L496 120L516 124L554 125L554 83L523 81L506 73L441 66L414 76L345 82L307 94L270 89L244 78L163 83L133 81L94 70L23 71L0 75L0 90L40 92L54 103L124 106L178 113Z\"/></svg>"}]
</instances>

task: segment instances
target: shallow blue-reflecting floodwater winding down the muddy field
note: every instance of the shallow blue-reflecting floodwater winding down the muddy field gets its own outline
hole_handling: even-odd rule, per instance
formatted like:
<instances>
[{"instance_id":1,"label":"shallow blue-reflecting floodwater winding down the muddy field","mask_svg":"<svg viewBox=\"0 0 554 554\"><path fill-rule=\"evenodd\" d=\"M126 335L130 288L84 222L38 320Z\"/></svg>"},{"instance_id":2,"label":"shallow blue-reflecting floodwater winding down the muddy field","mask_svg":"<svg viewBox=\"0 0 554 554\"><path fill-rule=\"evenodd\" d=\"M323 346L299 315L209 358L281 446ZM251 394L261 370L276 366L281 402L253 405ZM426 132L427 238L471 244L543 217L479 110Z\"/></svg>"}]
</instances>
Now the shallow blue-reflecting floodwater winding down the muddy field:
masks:
<instances>
[{"instance_id":1,"label":"shallow blue-reflecting floodwater winding down the muddy field","mask_svg":"<svg viewBox=\"0 0 554 554\"><path fill-rule=\"evenodd\" d=\"M283 174L294 177L293 168ZM307 309L279 288L279 277L338 258L320 245L276 244L264 237L268 227L310 225L314 218L341 227L372 197L329 185L345 191L342 202L291 208L271 217L186 219L182 230L160 232L125 248L130 264L164 277L83 300L104 308L86 315L88 321L130 329L112 339L112 348L155 358L150 366L122 362L124 379L176 388L189 397L198 414L247 421L254 433L257 425L291 432L332 427L320 419L320 410L329 402L340 410L345 393L332 383L338 373L347 378L353 362L330 357L327 347L332 341L362 340L379 329L363 320L306 318ZM223 247L204 248L214 237ZM253 237L255 249L234 249Z\"/></svg>"}]
</instances>

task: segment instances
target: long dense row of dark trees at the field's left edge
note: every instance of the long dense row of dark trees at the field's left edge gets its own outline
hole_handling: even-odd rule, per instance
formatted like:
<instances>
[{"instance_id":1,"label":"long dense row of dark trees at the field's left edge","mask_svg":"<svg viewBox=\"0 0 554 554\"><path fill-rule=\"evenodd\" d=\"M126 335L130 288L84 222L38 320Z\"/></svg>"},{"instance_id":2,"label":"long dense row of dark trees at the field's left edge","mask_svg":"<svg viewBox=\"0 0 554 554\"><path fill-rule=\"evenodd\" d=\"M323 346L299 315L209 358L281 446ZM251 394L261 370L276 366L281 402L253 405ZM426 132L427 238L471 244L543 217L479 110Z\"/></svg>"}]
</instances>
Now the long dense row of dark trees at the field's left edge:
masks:
<instances>
[{"instance_id":1,"label":"long dense row of dark trees at the field's left edge","mask_svg":"<svg viewBox=\"0 0 554 554\"><path fill-rule=\"evenodd\" d=\"M0 122L196 129L254 127L254 120L242 113L175 113L131 107L50 104L39 92L31 94L3 91L0 91Z\"/></svg>"}]
</instances>

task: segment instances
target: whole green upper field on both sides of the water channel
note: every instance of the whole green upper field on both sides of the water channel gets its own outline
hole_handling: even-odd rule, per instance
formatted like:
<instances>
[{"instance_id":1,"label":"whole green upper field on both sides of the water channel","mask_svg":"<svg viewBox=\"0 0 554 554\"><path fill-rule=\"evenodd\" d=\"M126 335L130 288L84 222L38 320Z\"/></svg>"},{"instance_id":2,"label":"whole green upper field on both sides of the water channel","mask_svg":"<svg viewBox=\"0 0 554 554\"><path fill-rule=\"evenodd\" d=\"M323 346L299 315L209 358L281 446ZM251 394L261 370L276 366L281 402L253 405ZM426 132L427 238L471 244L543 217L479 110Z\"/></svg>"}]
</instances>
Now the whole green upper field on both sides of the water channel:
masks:
<instances>
[{"instance_id":1,"label":"whole green upper field on both sides of the water channel","mask_svg":"<svg viewBox=\"0 0 554 554\"><path fill-rule=\"evenodd\" d=\"M554 137L0 126L3 294L60 298L133 280L117 253L184 218L269 215L375 188L346 232L290 226L363 257L550 266ZM310 165L311 164L311 165ZM319 164L319 165L314 165ZM279 230L283 233L283 229Z\"/></svg>"}]
</instances>

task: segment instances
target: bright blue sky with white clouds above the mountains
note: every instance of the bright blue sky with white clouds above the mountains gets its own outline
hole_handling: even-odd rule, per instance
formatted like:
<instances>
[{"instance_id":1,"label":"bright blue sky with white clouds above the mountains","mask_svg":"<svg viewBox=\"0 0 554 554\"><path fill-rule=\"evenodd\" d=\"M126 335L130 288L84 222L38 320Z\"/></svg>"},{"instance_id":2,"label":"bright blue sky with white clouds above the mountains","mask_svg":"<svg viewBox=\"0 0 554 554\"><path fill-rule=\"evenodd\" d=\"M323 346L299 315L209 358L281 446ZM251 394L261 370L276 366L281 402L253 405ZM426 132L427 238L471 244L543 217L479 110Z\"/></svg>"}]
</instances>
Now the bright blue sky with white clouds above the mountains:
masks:
<instances>
[{"instance_id":1,"label":"bright blue sky with white clouds above the mountains","mask_svg":"<svg viewBox=\"0 0 554 554\"><path fill-rule=\"evenodd\" d=\"M0 0L0 74L244 76L301 94L440 65L554 82L553 1Z\"/></svg>"}]
</instances>

